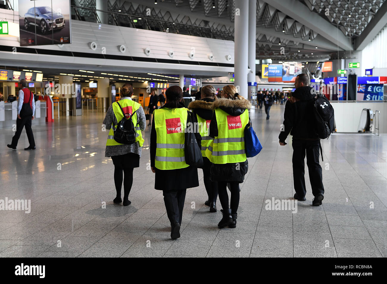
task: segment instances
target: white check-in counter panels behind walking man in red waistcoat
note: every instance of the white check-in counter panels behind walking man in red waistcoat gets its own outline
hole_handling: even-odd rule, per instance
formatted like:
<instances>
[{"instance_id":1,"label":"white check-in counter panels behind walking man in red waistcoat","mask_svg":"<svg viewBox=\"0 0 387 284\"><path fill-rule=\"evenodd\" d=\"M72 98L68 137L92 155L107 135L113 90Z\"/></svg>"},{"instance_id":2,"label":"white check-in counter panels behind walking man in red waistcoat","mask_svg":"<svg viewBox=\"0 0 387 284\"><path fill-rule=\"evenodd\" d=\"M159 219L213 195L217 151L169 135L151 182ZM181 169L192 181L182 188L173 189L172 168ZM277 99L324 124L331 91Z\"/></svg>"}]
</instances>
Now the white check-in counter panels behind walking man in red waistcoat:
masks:
<instances>
[{"instance_id":1,"label":"white check-in counter panels behind walking man in red waistcoat","mask_svg":"<svg viewBox=\"0 0 387 284\"><path fill-rule=\"evenodd\" d=\"M0 102L0 128L12 127L17 119L17 101ZM37 100L35 102L35 113L32 125L46 123L46 101Z\"/></svg>"}]
</instances>

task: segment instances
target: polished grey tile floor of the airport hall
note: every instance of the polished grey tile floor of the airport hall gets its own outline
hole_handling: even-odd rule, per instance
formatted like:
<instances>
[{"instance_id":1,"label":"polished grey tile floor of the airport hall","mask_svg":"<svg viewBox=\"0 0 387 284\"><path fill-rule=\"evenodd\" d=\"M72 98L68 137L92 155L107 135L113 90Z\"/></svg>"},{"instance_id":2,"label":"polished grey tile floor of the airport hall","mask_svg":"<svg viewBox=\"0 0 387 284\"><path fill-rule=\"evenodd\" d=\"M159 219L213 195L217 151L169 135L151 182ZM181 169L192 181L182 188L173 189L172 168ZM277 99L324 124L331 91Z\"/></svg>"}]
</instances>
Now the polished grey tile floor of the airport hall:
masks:
<instances>
[{"instance_id":1,"label":"polished grey tile floor of the airport hall","mask_svg":"<svg viewBox=\"0 0 387 284\"><path fill-rule=\"evenodd\" d=\"M278 144L284 105L271 119L252 110L264 149L249 158L241 184L238 224L219 230L200 186L187 190L181 238L170 239L162 192L149 168L149 136L127 207L113 204L113 163L104 157L102 113L34 126L36 151L7 148L12 129L0 129L0 200L31 199L31 213L0 210L0 257L386 257L387 135L335 135L322 141L323 206L297 212L266 210L267 200L292 199L291 140ZM103 206L106 202L106 208ZM220 203L217 202L218 209Z\"/></svg>"}]
</instances>

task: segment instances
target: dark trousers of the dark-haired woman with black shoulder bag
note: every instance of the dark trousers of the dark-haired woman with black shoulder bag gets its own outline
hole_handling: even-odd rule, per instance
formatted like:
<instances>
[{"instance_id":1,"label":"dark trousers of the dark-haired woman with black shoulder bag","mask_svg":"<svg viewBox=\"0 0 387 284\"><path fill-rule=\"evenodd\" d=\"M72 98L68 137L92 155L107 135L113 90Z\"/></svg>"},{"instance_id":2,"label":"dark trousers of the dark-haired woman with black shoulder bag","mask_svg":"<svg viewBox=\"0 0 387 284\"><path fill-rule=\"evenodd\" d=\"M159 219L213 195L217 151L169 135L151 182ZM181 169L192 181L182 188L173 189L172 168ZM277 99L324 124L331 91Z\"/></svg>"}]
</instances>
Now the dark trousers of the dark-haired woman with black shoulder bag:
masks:
<instances>
[{"instance_id":1,"label":"dark trousers of the dark-haired woman with black shoulder bag","mask_svg":"<svg viewBox=\"0 0 387 284\"><path fill-rule=\"evenodd\" d=\"M185 193L187 189L163 190L165 209L167 209L168 219L171 224L178 221L182 224Z\"/></svg>"}]
</instances>

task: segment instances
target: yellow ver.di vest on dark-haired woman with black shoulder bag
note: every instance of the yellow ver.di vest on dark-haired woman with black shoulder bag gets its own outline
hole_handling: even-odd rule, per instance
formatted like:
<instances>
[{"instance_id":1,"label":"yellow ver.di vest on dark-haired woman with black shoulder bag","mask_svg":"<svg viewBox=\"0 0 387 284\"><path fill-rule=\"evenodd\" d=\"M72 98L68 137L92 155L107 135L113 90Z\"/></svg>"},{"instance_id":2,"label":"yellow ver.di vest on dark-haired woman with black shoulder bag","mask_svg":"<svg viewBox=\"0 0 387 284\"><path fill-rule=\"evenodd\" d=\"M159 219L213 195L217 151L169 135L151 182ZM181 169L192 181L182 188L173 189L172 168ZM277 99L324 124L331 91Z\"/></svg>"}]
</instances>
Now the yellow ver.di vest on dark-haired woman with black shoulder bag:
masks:
<instances>
[{"instance_id":1,"label":"yellow ver.di vest on dark-haired woman with black shoulder bag","mask_svg":"<svg viewBox=\"0 0 387 284\"><path fill-rule=\"evenodd\" d=\"M154 165L159 170L187 168L185 163L184 140L188 109L155 109L156 158Z\"/></svg>"}]
</instances>

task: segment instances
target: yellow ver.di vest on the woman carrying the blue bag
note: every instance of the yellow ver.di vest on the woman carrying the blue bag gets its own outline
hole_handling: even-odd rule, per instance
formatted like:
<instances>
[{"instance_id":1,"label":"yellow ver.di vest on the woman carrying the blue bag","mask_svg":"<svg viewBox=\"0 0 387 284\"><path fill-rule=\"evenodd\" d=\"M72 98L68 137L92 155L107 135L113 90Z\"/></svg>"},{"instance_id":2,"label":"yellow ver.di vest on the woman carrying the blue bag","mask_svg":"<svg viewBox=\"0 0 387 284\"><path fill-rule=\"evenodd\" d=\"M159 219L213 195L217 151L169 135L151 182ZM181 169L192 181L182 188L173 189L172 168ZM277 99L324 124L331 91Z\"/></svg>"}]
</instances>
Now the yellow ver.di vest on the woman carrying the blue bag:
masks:
<instances>
[{"instance_id":1,"label":"yellow ver.di vest on the woman carrying the blue bag","mask_svg":"<svg viewBox=\"0 0 387 284\"><path fill-rule=\"evenodd\" d=\"M248 124L247 109L240 116L215 109L218 136L211 141L205 155L214 164L246 161L245 127Z\"/></svg>"}]
</instances>

